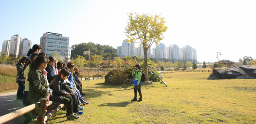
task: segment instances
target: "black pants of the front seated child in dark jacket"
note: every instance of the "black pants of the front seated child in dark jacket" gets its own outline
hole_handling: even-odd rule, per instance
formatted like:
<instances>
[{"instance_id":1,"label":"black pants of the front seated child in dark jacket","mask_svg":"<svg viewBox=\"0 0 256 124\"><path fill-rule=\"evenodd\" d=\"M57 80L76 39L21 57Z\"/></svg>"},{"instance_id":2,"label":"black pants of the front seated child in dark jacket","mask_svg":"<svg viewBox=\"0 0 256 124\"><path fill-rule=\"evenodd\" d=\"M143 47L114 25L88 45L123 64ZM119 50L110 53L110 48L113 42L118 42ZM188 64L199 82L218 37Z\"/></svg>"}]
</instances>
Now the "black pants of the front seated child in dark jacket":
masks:
<instances>
[{"instance_id":1,"label":"black pants of the front seated child in dark jacket","mask_svg":"<svg viewBox=\"0 0 256 124\"><path fill-rule=\"evenodd\" d=\"M67 102L67 113L69 115L78 112L79 106L78 106L78 101L77 97L70 93L70 96L63 96L64 102Z\"/></svg>"}]
</instances>

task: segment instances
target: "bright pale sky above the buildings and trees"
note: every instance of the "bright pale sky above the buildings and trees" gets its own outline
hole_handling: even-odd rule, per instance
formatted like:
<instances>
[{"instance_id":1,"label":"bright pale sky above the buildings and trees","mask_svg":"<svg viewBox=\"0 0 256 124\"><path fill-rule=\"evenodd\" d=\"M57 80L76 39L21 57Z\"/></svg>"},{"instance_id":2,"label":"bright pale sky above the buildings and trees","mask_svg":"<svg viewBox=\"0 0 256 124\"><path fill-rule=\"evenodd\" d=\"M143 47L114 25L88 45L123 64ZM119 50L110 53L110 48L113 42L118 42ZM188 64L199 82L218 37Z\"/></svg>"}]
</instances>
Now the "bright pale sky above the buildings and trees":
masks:
<instances>
[{"instance_id":1,"label":"bright pale sky above the buildings and trees","mask_svg":"<svg viewBox=\"0 0 256 124\"><path fill-rule=\"evenodd\" d=\"M256 59L255 6L256 0L0 0L0 49L16 34L39 44L46 32L69 37L71 45L117 49L127 39L128 12L137 12L161 14L168 28L160 43L189 45L198 62L217 62L217 52L220 60Z\"/></svg>"}]
</instances>

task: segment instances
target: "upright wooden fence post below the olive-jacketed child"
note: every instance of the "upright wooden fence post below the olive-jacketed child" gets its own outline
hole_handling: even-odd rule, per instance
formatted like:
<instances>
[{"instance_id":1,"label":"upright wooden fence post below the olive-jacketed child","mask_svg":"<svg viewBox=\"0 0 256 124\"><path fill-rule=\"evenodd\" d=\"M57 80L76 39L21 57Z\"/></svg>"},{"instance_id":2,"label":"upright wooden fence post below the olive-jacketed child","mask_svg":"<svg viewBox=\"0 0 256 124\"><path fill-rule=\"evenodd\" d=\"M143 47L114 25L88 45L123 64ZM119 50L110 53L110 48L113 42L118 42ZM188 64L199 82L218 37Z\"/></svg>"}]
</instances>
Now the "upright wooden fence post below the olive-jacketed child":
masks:
<instances>
[{"instance_id":1,"label":"upright wooden fence post below the olive-jacketed child","mask_svg":"<svg viewBox=\"0 0 256 124\"><path fill-rule=\"evenodd\" d=\"M43 121L44 121L44 117L45 117L45 113L46 113L45 111L46 111L47 101L48 101L47 98L42 98L41 99L36 124L44 124Z\"/></svg>"}]
</instances>

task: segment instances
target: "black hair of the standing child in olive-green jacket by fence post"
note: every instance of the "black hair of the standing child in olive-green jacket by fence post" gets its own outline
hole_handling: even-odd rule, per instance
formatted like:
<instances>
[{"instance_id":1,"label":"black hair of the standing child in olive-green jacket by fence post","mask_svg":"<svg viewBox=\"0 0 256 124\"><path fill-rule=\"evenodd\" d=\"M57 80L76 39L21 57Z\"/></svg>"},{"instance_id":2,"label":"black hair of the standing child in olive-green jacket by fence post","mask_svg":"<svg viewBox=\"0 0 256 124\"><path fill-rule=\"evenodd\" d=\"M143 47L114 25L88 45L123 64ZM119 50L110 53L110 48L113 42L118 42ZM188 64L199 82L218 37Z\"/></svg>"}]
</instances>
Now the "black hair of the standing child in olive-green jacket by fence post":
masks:
<instances>
[{"instance_id":1,"label":"black hair of the standing child in olive-green jacket by fence post","mask_svg":"<svg viewBox=\"0 0 256 124\"><path fill-rule=\"evenodd\" d=\"M44 63L48 63L49 59L46 56L35 56L32 60L31 60L31 65L30 65L30 71L36 69L40 64Z\"/></svg>"}]
</instances>

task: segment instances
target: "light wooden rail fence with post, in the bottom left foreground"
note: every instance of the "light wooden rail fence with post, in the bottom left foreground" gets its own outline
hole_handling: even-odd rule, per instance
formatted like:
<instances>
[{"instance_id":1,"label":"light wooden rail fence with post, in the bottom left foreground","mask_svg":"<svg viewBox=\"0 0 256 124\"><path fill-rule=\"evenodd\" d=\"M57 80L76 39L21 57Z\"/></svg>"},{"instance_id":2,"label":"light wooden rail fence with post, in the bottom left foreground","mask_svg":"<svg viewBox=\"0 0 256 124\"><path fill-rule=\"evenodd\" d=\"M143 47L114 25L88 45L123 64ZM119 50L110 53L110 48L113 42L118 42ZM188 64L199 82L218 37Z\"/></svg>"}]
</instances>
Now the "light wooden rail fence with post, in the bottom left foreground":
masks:
<instances>
[{"instance_id":1,"label":"light wooden rail fence with post, in the bottom left foreground","mask_svg":"<svg viewBox=\"0 0 256 124\"><path fill-rule=\"evenodd\" d=\"M61 109L64 104L61 102L56 102L56 104L58 105L54 110L52 110L50 113L48 113L46 115L46 108L49 105L52 105L53 101L49 101L49 103L47 104L48 99L43 98L41 99L40 102L36 102L32 105L23 107L19 110L16 110L14 112L11 112L9 114L3 115L0 117L0 124L4 124L7 123L15 118L18 118L28 112L33 111L34 109L38 109L39 108L39 112L38 112L38 117L36 119L34 119L33 121L31 121L29 124L34 124L34 121L36 121L36 124L44 124L45 121L47 121L51 116L53 116L53 114L55 114L56 112L59 111L59 109Z\"/></svg>"}]
</instances>

